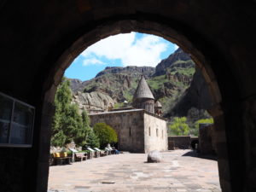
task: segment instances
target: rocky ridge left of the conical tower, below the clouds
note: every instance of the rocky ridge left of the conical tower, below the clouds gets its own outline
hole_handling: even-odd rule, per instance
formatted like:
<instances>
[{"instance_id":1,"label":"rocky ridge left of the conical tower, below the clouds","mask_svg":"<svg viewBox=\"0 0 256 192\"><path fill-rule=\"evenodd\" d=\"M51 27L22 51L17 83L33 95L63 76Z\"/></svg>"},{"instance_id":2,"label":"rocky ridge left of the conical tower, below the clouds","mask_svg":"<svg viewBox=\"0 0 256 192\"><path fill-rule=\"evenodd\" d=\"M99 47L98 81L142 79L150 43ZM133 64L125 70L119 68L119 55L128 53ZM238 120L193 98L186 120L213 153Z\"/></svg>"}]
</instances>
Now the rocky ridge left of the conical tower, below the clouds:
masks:
<instances>
[{"instance_id":1,"label":"rocky ridge left of the conical tower, below the clouds","mask_svg":"<svg viewBox=\"0 0 256 192\"><path fill-rule=\"evenodd\" d=\"M96 78L84 82L71 81L73 92L101 92L111 96L115 102L130 101L142 75L149 79L154 67L106 67Z\"/></svg>"}]
</instances>

